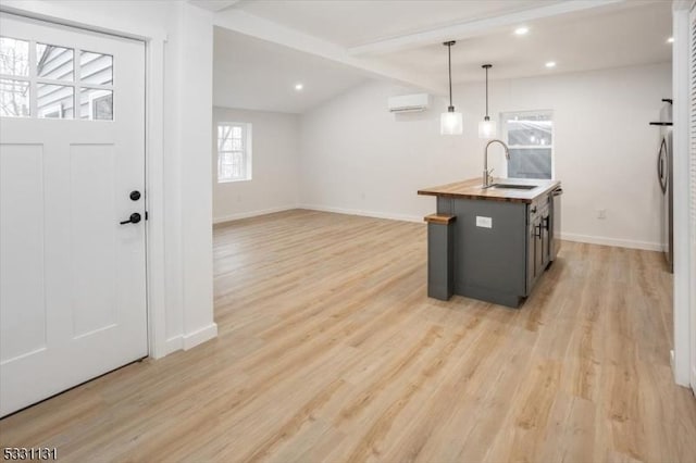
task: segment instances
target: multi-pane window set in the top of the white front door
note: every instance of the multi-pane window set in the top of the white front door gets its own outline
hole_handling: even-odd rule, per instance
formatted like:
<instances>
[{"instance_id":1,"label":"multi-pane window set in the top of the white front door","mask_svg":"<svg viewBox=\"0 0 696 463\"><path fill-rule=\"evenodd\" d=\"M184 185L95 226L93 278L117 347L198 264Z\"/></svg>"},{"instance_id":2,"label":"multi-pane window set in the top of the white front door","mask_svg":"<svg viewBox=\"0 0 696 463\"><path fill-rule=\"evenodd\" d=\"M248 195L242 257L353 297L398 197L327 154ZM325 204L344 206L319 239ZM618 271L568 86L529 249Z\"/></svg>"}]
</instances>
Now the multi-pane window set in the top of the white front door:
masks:
<instances>
[{"instance_id":1,"label":"multi-pane window set in the top of the white front door","mask_svg":"<svg viewBox=\"0 0 696 463\"><path fill-rule=\"evenodd\" d=\"M113 57L0 37L0 116L113 121Z\"/></svg>"}]
</instances>

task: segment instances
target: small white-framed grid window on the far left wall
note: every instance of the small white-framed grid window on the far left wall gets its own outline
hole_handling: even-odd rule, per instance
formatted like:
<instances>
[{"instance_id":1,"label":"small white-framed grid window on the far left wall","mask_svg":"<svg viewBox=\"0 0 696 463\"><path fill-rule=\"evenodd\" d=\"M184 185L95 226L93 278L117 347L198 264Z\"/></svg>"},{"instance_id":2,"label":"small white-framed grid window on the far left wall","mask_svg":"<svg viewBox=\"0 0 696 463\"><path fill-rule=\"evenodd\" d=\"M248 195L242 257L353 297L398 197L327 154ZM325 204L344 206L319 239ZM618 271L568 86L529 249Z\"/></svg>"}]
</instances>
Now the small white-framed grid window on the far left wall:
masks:
<instances>
[{"instance_id":1,"label":"small white-framed grid window on the far left wall","mask_svg":"<svg viewBox=\"0 0 696 463\"><path fill-rule=\"evenodd\" d=\"M251 179L251 124L217 125L217 182Z\"/></svg>"}]
</instances>

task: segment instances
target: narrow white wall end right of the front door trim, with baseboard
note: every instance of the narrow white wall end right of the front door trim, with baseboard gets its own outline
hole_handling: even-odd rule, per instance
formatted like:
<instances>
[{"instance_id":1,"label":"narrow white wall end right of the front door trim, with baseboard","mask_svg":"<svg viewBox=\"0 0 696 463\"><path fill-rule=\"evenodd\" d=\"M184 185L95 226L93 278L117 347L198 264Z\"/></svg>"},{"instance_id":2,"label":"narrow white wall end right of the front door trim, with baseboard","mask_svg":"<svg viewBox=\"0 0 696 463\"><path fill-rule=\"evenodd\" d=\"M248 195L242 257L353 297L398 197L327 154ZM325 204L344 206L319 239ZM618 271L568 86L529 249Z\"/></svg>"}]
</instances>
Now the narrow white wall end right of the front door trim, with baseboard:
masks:
<instances>
[{"instance_id":1,"label":"narrow white wall end right of the front door trim, with baseboard","mask_svg":"<svg viewBox=\"0 0 696 463\"><path fill-rule=\"evenodd\" d=\"M188 349L217 335L213 323L212 164L206 155L212 150L213 27L211 12L188 2L175 2L175 8L177 26L172 30L179 36L178 83L171 88L177 108L176 132L170 135L177 140L181 157L183 329L170 333L169 339L178 348L181 337L181 347Z\"/></svg>"}]
</instances>

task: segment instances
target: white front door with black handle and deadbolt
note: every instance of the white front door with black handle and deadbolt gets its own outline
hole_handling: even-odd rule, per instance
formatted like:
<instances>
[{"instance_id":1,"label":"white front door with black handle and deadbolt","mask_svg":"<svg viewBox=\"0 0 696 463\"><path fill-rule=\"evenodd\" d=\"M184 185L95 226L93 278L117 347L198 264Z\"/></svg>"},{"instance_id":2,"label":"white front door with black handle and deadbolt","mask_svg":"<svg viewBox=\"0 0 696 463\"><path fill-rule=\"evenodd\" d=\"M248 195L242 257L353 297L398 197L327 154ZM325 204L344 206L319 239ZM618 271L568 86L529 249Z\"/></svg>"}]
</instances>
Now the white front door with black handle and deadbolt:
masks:
<instances>
[{"instance_id":1,"label":"white front door with black handle and deadbolt","mask_svg":"<svg viewBox=\"0 0 696 463\"><path fill-rule=\"evenodd\" d=\"M7 14L0 36L3 416L148 349L145 45Z\"/></svg>"}]
</instances>

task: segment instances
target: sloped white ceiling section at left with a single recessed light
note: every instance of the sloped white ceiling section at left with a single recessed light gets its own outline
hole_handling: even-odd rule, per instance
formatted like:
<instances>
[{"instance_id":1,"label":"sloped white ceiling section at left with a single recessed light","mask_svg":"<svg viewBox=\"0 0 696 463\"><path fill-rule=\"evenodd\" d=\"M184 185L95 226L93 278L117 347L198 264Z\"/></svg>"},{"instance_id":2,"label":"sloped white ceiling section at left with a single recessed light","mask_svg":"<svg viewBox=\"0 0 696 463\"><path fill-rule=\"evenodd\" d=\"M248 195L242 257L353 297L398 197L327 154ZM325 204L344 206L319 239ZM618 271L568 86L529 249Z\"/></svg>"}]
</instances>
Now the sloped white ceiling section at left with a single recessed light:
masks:
<instances>
[{"instance_id":1,"label":"sloped white ceiling section at left with a single recessed light","mask_svg":"<svg viewBox=\"0 0 696 463\"><path fill-rule=\"evenodd\" d=\"M273 42L214 28L213 103L302 113L365 80L364 72ZM301 83L302 91L295 90Z\"/></svg>"}]
</instances>

